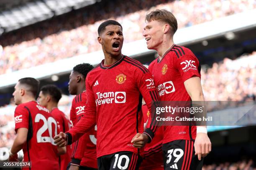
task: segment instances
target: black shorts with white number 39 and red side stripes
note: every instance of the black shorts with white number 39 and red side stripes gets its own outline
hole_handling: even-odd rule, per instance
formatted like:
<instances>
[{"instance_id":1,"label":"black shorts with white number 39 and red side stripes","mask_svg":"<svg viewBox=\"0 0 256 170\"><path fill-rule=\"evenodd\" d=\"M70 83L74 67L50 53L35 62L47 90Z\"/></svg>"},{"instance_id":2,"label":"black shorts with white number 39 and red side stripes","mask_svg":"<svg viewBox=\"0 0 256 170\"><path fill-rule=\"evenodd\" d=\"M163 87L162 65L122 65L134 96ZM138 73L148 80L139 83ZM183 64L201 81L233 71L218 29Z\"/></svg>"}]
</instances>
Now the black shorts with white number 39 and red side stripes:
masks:
<instances>
[{"instance_id":1,"label":"black shorts with white number 39 and red side stripes","mask_svg":"<svg viewBox=\"0 0 256 170\"><path fill-rule=\"evenodd\" d=\"M174 140L162 146L164 170L202 170L203 158L195 155L194 141Z\"/></svg>"}]
</instances>

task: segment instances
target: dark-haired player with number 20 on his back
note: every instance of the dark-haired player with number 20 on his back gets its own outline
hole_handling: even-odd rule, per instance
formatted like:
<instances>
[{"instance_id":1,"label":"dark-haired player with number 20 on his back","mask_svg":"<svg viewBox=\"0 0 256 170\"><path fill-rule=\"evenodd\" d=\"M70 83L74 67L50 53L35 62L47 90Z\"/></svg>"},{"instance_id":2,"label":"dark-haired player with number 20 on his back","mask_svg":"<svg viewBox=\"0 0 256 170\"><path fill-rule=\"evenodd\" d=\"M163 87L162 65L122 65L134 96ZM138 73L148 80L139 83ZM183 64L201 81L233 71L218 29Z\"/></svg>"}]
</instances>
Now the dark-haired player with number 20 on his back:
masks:
<instances>
[{"instance_id":1,"label":"dark-haired player with number 20 on his back","mask_svg":"<svg viewBox=\"0 0 256 170\"><path fill-rule=\"evenodd\" d=\"M53 139L57 133L57 122L47 108L37 104L38 87L39 82L31 77L18 80L14 87L14 101L18 105L14 112L17 136L9 151L9 161L16 160L18 151L22 149L24 161L31 162L31 170L59 170Z\"/></svg>"}]
</instances>

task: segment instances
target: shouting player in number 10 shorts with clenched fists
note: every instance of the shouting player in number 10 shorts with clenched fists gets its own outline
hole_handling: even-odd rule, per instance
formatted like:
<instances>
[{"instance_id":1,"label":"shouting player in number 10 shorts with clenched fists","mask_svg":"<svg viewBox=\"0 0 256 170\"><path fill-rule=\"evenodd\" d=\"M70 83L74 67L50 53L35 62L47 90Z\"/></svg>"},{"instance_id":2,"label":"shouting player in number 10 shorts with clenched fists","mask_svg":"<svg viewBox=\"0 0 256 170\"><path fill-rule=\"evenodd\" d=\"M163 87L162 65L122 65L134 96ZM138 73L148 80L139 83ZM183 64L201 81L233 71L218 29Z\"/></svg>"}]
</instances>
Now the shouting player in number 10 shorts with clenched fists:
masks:
<instances>
[{"instance_id":1,"label":"shouting player in number 10 shorts with clenched fists","mask_svg":"<svg viewBox=\"0 0 256 170\"><path fill-rule=\"evenodd\" d=\"M151 141L156 129L151 126L143 133L141 112L142 97L149 110L159 100L153 77L140 62L122 55L122 30L114 20L100 24L98 42L105 59L86 77L85 113L71 130L54 137L57 145L70 145L97 122L99 170L138 169L143 154L139 148Z\"/></svg>"}]
</instances>

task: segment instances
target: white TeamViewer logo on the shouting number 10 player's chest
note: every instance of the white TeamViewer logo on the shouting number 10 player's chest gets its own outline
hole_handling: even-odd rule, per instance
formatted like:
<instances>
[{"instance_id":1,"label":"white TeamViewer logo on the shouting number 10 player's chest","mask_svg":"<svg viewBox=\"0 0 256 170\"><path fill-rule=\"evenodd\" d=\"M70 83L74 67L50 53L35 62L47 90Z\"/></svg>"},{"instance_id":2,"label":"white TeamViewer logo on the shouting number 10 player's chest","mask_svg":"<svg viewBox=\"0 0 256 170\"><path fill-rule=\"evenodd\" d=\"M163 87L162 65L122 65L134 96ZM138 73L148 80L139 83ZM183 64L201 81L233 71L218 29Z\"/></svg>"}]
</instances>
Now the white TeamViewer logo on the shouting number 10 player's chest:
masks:
<instances>
[{"instance_id":1,"label":"white TeamViewer logo on the shouting number 10 player's chest","mask_svg":"<svg viewBox=\"0 0 256 170\"><path fill-rule=\"evenodd\" d=\"M97 99L95 100L96 105L104 105L115 103L125 103L126 102L126 92L97 92Z\"/></svg>"}]
</instances>

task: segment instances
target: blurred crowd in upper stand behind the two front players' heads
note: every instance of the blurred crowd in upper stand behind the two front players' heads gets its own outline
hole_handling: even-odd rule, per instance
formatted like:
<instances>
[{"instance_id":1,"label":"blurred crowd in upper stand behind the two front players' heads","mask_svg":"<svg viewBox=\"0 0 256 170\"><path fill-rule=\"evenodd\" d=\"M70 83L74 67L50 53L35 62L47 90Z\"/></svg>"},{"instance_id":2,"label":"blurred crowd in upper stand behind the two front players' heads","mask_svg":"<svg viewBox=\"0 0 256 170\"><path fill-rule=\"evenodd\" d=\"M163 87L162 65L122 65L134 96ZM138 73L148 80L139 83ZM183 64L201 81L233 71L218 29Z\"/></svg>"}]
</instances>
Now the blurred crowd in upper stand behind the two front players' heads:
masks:
<instances>
[{"instance_id":1,"label":"blurred crowd in upper stand behind the two front players' heads","mask_svg":"<svg viewBox=\"0 0 256 170\"><path fill-rule=\"evenodd\" d=\"M254 0L131 0L125 4L118 0L102 1L86 10L2 35L0 74L100 50L97 27L110 18L123 25L125 42L143 39L145 15L156 8L172 11L179 28L183 28L255 9L256 3ZM217 66L214 65L212 72Z\"/></svg>"}]
</instances>

